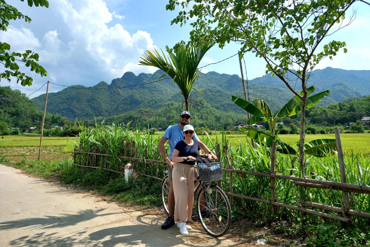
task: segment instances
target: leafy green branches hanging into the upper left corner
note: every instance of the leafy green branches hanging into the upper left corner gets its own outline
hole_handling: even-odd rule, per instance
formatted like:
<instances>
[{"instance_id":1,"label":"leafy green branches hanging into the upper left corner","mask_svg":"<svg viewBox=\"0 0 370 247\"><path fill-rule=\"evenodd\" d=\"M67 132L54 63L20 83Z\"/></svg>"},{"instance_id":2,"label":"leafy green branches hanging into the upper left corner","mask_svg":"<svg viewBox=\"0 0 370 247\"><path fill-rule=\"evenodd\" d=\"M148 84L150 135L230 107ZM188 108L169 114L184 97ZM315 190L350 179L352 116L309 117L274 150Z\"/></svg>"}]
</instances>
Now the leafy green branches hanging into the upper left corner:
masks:
<instances>
[{"instance_id":1,"label":"leafy green branches hanging into the upper left corner","mask_svg":"<svg viewBox=\"0 0 370 247\"><path fill-rule=\"evenodd\" d=\"M24 0L21 0L22 2ZM49 2L47 0L27 0L28 6L32 7L35 4L36 7L49 7ZM19 12L15 7L7 4L5 0L0 0L0 29L1 31L6 31L10 20L24 19L26 22L30 23L31 18L25 16ZM0 42L0 63L4 65L4 72L0 73L1 79L11 80L11 77L17 78L17 83L21 83L22 86L31 86L32 77L27 76L24 72L19 69L18 61L23 62L26 67L30 67L31 71L35 71L40 76L47 76L47 71L37 63L38 54L32 52L31 50L26 50L24 53L10 53L10 44Z\"/></svg>"}]
</instances>

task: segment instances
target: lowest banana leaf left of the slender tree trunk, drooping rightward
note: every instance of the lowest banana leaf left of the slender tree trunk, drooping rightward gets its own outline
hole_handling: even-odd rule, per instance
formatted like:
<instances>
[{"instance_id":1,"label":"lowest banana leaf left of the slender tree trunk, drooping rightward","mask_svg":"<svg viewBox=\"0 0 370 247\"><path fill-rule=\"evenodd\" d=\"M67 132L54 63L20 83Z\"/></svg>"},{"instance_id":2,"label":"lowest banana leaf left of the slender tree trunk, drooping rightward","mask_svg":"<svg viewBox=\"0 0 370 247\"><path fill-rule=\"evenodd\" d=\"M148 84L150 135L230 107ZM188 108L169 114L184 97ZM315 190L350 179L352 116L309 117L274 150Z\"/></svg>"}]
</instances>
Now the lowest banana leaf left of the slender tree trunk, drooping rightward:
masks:
<instances>
[{"instance_id":1,"label":"lowest banana leaf left of the slender tree trunk, drooping rightward","mask_svg":"<svg viewBox=\"0 0 370 247\"><path fill-rule=\"evenodd\" d=\"M266 144L268 147L272 147L272 141L275 140L275 137L271 136L270 134L260 130L255 130L254 128L250 128L246 135L257 142L259 142L259 140L265 140L264 144ZM297 151L293 147L280 141L279 139L276 139L275 141L277 152L293 155L297 153Z\"/></svg>"}]
</instances>

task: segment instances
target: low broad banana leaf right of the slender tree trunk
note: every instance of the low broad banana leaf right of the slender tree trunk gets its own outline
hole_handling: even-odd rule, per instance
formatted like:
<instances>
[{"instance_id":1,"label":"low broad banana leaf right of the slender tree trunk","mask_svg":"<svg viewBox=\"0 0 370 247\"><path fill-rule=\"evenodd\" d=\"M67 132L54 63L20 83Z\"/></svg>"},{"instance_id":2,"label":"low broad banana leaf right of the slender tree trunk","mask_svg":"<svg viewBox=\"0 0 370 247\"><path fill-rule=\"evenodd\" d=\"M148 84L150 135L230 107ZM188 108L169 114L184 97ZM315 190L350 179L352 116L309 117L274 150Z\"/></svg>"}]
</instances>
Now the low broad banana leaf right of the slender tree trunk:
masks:
<instances>
[{"instance_id":1,"label":"low broad banana leaf right of the slender tree trunk","mask_svg":"<svg viewBox=\"0 0 370 247\"><path fill-rule=\"evenodd\" d=\"M299 146L299 141L297 141ZM316 139L305 143L305 153L316 157L325 157L328 153L337 151L335 139Z\"/></svg>"}]
</instances>

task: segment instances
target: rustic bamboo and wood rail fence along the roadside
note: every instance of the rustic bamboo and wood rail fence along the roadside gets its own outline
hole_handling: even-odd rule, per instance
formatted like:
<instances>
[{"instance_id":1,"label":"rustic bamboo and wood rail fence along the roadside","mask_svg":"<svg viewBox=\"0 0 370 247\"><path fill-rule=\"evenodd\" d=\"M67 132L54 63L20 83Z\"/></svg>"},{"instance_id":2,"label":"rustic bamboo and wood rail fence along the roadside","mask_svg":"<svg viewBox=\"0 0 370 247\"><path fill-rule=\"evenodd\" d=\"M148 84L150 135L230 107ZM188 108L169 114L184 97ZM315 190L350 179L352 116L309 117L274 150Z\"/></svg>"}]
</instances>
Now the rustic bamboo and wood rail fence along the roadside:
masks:
<instances>
[{"instance_id":1,"label":"rustic bamboo and wood rail fence along the roadside","mask_svg":"<svg viewBox=\"0 0 370 247\"><path fill-rule=\"evenodd\" d=\"M133 144L133 147L135 144ZM304 213L310 213L314 214L320 217L326 217L326 218L331 218L334 220L339 220L343 221L346 223L352 223L352 218L351 216L360 216L360 217L365 217L365 218L370 218L370 213L360 211L357 206L356 202L354 201L353 194L354 193L362 193L362 194L370 194L370 186L367 185L356 185L356 184L348 184L348 183L343 183L343 182L336 182L336 181L327 181L327 180L317 180L317 179L310 179L310 178L302 178L302 177L295 177L295 176L286 176L282 174L276 174L276 173L262 173L262 172L256 172L256 171L245 171L245 170L235 170L232 169L232 165L230 164L230 160L228 158L228 153L227 153L227 145L223 147L223 151L225 153L226 157L226 165L228 168L223 168L223 171L226 173L229 173L229 191L225 191L227 195L230 196L230 202L232 203L232 197L239 197L247 200L253 200L253 201L258 201L261 203L266 203L270 204L272 207L285 207L285 208L290 208L293 210L298 210ZM340 154L339 150L339 156ZM103 160L104 157L111 157L109 154L101 154L101 153L91 153L91 152L81 152L81 151L75 151L72 152L73 157L74 157L74 165L75 166L80 166L80 167L89 167L89 168L98 168L98 169L103 169L103 170L108 170L111 172L115 172L118 174L124 174L122 171L115 171L109 168L106 168L106 166L97 166L97 161L100 158L101 161ZM146 154L148 153L147 150L145 152ZM131 150L131 154L134 154ZM216 155L220 159L221 157L221 144L217 143L216 145ZM82 156L87 156L84 158L81 158ZM146 155L147 156L147 155ZM142 169L144 172L139 173L142 176L147 176L151 177L157 180L162 180L163 176L162 174L159 173L159 167L163 167L163 170L167 169L167 164L165 161L161 160L150 160L147 157L146 158L136 158L136 157L126 157L126 156L117 156L117 158L120 158L122 160L122 169L124 167L125 162L131 162L134 164L134 167L137 167L137 169L134 169L136 171L139 170L138 164L141 163L143 164L144 168ZM86 164L81 164L82 160L86 160ZM340 161L341 162L341 161ZM100 162L101 163L101 162ZM148 166L154 166L155 174L147 174L148 171ZM153 168L153 167L152 167ZM344 169L341 171L341 177L342 177L342 172L344 173ZM296 186L303 187L303 188L320 188L320 189L326 189L328 191L330 190L340 190L343 193L343 203L342 207L334 207L330 205L325 205L325 204L319 204L319 203L312 203L306 200L299 200L298 197L296 196L296 205L290 205L290 204L285 204L285 203L280 203L275 200L275 190L271 190L271 198L274 198L274 200L266 200L263 198L257 198L257 197L250 197L246 195L241 195L241 194L235 194L233 193L233 173L236 174L248 174L252 176L258 176L258 177L270 177L270 187L275 188L275 178L278 179L285 179L292 181L294 184L294 187L296 189ZM345 174L343 175L345 177ZM162 178L161 178L162 177ZM225 180L226 181L226 180ZM343 180L341 180L343 181ZM221 181L218 181L219 186L225 188L227 186L222 186ZM344 195L347 195L344 196ZM353 203L356 207L357 210L351 209L350 205ZM324 213L324 212L319 212L316 210L308 209L306 207L313 207L313 208L319 208L321 210L325 211L332 211L337 214L329 214L329 213ZM273 212L273 210L272 210Z\"/></svg>"}]
</instances>

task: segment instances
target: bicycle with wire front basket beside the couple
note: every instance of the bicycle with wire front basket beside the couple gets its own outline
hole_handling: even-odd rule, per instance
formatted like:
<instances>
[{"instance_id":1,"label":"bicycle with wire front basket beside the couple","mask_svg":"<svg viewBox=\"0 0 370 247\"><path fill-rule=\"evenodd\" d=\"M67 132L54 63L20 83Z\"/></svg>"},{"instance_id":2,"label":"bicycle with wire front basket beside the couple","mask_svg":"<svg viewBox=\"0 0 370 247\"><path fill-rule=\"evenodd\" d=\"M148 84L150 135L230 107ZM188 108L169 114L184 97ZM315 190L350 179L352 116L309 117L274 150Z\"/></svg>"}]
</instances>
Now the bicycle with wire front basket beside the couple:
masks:
<instances>
[{"instance_id":1,"label":"bicycle with wire front basket beside the couple","mask_svg":"<svg viewBox=\"0 0 370 247\"><path fill-rule=\"evenodd\" d=\"M168 171L161 183L162 203L168 214ZM231 224L231 206L225 192L211 181L222 179L222 163L198 164L199 176L194 182L194 196L199 221L213 237L223 236Z\"/></svg>"}]
</instances>

